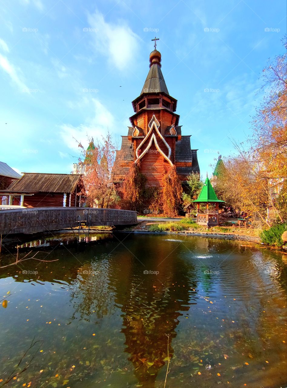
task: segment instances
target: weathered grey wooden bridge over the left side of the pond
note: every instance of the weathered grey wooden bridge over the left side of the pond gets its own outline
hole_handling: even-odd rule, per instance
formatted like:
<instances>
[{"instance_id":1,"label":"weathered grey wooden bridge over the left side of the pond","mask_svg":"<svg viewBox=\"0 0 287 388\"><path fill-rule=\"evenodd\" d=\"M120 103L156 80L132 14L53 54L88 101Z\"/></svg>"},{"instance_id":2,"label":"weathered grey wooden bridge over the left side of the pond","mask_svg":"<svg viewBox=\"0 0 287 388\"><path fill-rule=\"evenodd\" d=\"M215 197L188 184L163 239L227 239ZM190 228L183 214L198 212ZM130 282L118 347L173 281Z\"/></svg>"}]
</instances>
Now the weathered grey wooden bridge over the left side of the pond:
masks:
<instances>
[{"instance_id":1,"label":"weathered grey wooden bridge over the left side of the pond","mask_svg":"<svg viewBox=\"0 0 287 388\"><path fill-rule=\"evenodd\" d=\"M21 208L0 210L0 234L38 233L76 227L134 225L137 213L131 210L96 208Z\"/></svg>"}]
</instances>

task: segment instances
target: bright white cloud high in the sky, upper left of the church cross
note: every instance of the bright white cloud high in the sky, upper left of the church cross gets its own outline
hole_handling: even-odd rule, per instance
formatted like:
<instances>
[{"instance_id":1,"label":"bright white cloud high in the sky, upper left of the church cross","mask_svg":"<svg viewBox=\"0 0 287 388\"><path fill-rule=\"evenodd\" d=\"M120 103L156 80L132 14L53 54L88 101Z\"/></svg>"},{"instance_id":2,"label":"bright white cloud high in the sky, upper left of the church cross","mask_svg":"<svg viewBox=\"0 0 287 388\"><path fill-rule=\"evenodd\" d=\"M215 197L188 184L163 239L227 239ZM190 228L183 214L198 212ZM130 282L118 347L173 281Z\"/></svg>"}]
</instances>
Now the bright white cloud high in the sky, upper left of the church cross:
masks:
<instances>
[{"instance_id":1,"label":"bright white cloud high in the sky, upper left of the church cross","mask_svg":"<svg viewBox=\"0 0 287 388\"><path fill-rule=\"evenodd\" d=\"M127 68L129 58L137 57L139 37L125 22L118 24L107 23L103 15L96 11L88 14L88 23L91 26L95 49L108 57L109 62L120 70ZM132 59L132 58L131 58Z\"/></svg>"}]
</instances>

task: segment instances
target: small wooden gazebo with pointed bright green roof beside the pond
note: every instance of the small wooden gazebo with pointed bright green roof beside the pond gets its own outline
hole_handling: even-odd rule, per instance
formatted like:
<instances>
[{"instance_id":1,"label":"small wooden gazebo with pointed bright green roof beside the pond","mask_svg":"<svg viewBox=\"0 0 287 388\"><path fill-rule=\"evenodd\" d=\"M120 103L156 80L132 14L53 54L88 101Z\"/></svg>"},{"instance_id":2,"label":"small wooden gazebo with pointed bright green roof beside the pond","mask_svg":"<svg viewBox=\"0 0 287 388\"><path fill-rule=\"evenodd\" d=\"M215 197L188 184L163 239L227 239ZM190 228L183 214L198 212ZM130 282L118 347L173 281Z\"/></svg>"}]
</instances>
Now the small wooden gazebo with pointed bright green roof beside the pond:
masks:
<instances>
[{"instance_id":1,"label":"small wooden gazebo with pointed bright green roof beside the pond","mask_svg":"<svg viewBox=\"0 0 287 388\"><path fill-rule=\"evenodd\" d=\"M206 177L206 180L203 184L201 192L199 193L198 199L192 201L197 204L197 214L196 214L196 222L199 225L206 226L215 226L218 225L218 204L224 201L221 201L217 198L213 187L211 186L210 180ZM199 204L206 203L206 213L199 213ZM215 203L215 211L209 212L209 204Z\"/></svg>"}]
</instances>

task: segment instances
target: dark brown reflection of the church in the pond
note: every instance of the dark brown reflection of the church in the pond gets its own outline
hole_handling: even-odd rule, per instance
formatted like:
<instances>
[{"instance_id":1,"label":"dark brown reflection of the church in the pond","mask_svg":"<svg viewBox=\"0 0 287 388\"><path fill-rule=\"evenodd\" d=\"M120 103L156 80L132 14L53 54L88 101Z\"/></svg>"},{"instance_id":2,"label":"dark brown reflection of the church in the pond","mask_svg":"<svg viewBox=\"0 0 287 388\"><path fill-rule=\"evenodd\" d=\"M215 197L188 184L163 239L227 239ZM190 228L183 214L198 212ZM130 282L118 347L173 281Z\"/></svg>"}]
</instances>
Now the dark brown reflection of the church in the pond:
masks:
<instances>
[{"instance_id":1,"label":"dark brown reflection of the church in the pond","mask_svg":"<svg viewBox=\"0 0 287 388\"><path fill-rule=\"evenodd\" d=\"M143 249L138 248L136 251ZM121 265L116 265L112 271L115 302L122 306L123 312L125 352L130 354L138 381L147 387L154 386L158 372L167 365L168 355L173 356L175 329L182 312L189 310L189 300L192 293L195 294L192 289L196 289L197 284L191 281L195 276L190 265L187 267L183 261L179 265L169 253L166 249L154 255L150 252L143 267L133 254L126 252L125 257L121 257ZM150 271L158 271L158 274Z\"/></svg>"}]
</instances>

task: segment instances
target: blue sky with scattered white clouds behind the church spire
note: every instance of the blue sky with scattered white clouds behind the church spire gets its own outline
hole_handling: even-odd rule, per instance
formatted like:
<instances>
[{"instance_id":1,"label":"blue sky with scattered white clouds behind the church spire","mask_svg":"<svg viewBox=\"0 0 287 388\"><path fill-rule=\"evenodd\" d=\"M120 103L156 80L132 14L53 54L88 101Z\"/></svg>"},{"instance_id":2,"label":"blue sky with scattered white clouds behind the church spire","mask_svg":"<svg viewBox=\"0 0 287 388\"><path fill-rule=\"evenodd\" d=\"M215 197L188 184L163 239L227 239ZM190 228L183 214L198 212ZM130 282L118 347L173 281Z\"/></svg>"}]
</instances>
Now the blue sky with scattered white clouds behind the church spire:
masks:
<instances>
[{"instance_id":1,"label":"blue sky with scattered white clouds behind the church spire","mask_svg":"<svg viewBox=\"0 0 287 388\"><path fill-rule=\"evenodd\" d=\"M73 136L127 135L156 35L182 134L210 175L229 138L250 132L262 69L284 51L285 29L285 0L3 0L0 161L69 173Z\"/></svg>"}]
</instances>

